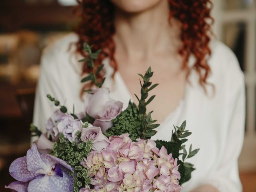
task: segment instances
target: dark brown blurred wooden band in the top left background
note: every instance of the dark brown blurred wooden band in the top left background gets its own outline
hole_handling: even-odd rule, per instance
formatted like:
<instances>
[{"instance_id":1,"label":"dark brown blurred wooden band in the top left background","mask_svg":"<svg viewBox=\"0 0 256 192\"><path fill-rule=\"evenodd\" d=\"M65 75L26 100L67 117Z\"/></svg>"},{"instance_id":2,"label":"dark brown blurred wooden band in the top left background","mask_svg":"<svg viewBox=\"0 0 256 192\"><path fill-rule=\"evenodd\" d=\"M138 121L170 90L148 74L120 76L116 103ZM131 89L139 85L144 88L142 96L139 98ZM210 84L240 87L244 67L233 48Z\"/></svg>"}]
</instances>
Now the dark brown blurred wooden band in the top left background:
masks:
<instances>
[{"instance_id":1,"label":"dark brown blurred wooden band in the top left background","mask_svg":"<svg viewBox=\"0 0 256 192\"><path fill-rule=\"evenodd\" d=\"M60 6L56 0L49 4L0 1L0 32L70 30L76 24L73 9L72 6Z\"/></svg>"}]
</instances>

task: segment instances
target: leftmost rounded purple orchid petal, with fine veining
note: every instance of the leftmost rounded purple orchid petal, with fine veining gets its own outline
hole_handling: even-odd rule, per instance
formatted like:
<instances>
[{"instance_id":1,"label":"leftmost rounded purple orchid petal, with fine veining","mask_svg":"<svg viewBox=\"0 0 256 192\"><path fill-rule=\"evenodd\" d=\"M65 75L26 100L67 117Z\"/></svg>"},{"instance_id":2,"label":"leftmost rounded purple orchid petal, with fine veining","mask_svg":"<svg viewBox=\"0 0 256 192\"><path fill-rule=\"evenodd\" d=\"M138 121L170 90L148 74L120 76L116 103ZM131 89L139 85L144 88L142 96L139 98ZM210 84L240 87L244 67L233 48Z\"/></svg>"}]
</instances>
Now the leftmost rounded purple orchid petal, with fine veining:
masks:
<instances>
[{"instance_id":1,"label":"leftmost rounded purple orchid petal, with fine veining","mask_svg":"<svg viewBox=\"0 0 256 192\"><path fill-rule=\"evenodd\" d=\"M9 172L14 179L23 182L30 181L40 175L28 170L26 156L14 160L10 165Z\"/></svg>"}]
</instances>

